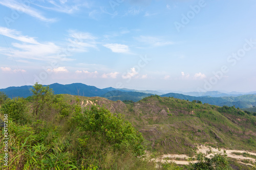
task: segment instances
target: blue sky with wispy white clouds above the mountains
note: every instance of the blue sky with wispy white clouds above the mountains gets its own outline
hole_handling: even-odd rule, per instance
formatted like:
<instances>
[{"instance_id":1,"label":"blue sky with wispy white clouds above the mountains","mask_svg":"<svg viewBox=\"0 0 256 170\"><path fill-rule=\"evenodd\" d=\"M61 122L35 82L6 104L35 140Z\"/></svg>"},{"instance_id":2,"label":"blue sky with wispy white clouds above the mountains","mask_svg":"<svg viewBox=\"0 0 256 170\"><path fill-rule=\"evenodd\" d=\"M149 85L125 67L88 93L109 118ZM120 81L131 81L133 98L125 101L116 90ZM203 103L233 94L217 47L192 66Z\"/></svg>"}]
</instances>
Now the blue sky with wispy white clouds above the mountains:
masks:
<instances>
[{"instance_id":1,"label":"blue sky with wispy white clouds above the mountains","mask_svg":"<svg viewBox=\"0 0 256 170\"><path fill-rule=\"evenodd\" d=\"M256 91L254 0L0 0L0 88Z\"/></svg>"}]
</instances>

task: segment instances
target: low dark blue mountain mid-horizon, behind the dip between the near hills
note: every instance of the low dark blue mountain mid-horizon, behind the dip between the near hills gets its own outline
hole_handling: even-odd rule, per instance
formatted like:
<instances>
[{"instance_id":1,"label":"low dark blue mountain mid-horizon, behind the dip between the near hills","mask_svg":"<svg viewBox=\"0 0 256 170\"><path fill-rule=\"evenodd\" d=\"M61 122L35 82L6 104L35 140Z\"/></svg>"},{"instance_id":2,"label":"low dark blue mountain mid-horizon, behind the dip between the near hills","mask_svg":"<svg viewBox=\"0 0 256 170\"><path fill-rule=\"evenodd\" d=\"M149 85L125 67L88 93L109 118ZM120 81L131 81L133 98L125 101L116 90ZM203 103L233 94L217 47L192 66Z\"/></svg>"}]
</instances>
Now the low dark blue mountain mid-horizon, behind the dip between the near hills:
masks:
<instances>
[{"instance_id":1,"label":"low dark blue mountain mid-horizon, behind the dip between the near hills","mask_svg":"<svg viewBox=\"0 0 256 170\"><path fill-rule=\"evenodd\" d=\"M104 95L102 95L102 98L106 98L112 101L124 101L124 100L130 100L130 101L134 101L134 102L138 102L141 99L147 97L147 96L151 96L154 94L151 93L142 93L142 92L134 92L134 91L119 91L119 90L115 90L115 91L109 91L107 93L105 93Z\"/></svg>"}]
</instances>

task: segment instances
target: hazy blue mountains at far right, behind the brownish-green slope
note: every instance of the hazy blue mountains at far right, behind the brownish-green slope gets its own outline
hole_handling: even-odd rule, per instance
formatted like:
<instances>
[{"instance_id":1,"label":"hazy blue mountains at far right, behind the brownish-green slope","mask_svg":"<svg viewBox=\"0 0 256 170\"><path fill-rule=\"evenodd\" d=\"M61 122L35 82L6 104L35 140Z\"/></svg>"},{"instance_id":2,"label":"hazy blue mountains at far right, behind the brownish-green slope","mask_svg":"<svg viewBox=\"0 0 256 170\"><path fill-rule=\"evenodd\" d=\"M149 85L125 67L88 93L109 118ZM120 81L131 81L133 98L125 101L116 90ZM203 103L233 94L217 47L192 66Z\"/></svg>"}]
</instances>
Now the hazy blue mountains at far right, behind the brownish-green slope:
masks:
<instances>
[{"instance_id":1,"label":"hazy blue mountains at far right, behind the brownish-green slope","mask_svg":"<svg viewBox=\"0 0 256 170\"><path fill-rule=\"evenodd\" d=\"M178 93L168 93L161 95L162 97L174 97L177 99L188 100L188 101L201 101L202 103L208 103L210 105L217 106L236 106L239 108L250 108L256 105L256 95L255 94L247 94L240 96L229 96L229 97L211 97L211 96L190 96Z\"/></svg>"}]
</instances>

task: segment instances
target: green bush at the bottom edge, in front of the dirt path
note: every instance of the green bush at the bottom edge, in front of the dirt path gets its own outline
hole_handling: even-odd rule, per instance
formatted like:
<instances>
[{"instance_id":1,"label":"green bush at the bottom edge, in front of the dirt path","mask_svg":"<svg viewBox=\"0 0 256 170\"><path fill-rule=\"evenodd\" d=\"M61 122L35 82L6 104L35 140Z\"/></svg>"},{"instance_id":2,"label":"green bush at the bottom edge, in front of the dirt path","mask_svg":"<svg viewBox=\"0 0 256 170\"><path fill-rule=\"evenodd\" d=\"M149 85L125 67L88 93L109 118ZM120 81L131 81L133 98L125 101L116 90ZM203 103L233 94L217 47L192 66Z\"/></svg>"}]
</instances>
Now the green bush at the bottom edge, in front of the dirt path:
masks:
<instances>
[{"instance_id":1,"label":"green bush at the bottom edge, in front of the dirt path","mask_svg":"<svg viewBox=\"0 0 256 170\"><path fill-rule=\"evenodd\" d=\"M208 158L202 153L197 154L197 162L192 164L189 163L187 169L200 169L200 170L232 170L228 163L228 158L226 151L224 152L214 152L214 156Z\"/></svg>"}]
</instances>

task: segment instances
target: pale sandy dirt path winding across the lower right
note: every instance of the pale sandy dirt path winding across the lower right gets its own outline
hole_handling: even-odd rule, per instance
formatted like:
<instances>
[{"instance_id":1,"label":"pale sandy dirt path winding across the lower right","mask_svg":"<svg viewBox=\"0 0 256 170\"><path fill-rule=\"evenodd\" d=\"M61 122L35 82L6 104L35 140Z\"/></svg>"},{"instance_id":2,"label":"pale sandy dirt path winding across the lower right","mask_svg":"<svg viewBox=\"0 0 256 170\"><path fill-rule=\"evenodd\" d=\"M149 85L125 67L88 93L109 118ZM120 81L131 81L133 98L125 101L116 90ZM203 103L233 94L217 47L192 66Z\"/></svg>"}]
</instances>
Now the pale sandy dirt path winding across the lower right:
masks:
<instances>
[{"instance_id":1,"label":"pale sandy dirt path winding across the lower right","mask_svg":"<svg viewBox=\"0 0 256 170\"><path fill-rule=\"evenodd\" d=\"M216 148L212 148L212 147L205 146L205 145L200 145L198 147L197 153L201 152L201 153L205 154L206 157L210 158L210 156L212 156L214 154L209 153L209 151L219 152L219 150ZM224 151L224 149L221 149L221 152L223 152L223 151ZM252 161L252 162L256 162L256 159L254 159L254 158L244 157L243 155L232 154L233 152L244 153L246 151L226 150L227 157L235 158L238 161L240 161L240 163L243 163L243 162L241 162L241 160L245 160L245 159ZM246 153L256 156L256 153L252 153L252 152L246 152ZM189 157L187 155L167 154L167 155L161 155L157 158L153 158L152 161L156 161L156 162L166 162L166 161L171 162L172 161L172 162L175 162L180 165L187 165L187 164L189 164L188 160L191 158L193 158L193 157ZM195 163L196 161L190 161L190 162ZM243 163L243 164L246 164L246 163ZM248 164L248 165L251 165L251 164Z\"/></svg>"}]
</instances>

